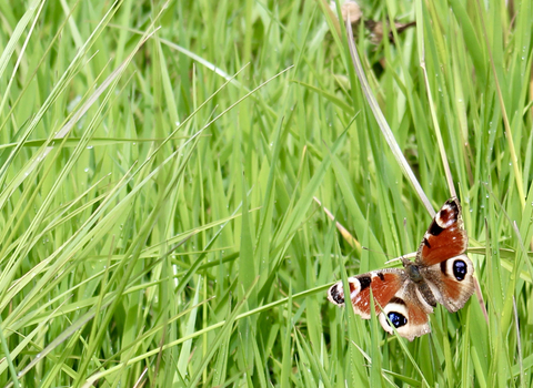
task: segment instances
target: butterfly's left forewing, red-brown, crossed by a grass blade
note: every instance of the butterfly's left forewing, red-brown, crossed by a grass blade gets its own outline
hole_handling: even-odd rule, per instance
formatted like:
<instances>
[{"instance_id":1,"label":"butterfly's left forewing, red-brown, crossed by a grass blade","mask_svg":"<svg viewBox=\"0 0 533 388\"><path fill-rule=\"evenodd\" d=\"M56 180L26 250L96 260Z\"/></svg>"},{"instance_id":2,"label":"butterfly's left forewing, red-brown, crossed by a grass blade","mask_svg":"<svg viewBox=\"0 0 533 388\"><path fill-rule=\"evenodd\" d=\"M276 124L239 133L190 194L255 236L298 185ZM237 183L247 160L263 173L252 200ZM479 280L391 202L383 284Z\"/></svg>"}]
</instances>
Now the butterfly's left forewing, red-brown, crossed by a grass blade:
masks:
<instances>
[{"instance_id":1,"label":"butterfly's left forewing, red-brown, crossed by a grass blade","mask_svg":"<svg viewBox=\"0 0 533 388\"><path fill-rule=\"evenodd\" d=\"M373 270L368 274L349 277L350 294L353 310L364 319L370 319L370 289L374 296L376 313L381 312L408 279L403 269L388 268ZM328 290L328 299L339 306L344 305L346 298L342 282L335 283Z\"/></svg>"}]
</instances>

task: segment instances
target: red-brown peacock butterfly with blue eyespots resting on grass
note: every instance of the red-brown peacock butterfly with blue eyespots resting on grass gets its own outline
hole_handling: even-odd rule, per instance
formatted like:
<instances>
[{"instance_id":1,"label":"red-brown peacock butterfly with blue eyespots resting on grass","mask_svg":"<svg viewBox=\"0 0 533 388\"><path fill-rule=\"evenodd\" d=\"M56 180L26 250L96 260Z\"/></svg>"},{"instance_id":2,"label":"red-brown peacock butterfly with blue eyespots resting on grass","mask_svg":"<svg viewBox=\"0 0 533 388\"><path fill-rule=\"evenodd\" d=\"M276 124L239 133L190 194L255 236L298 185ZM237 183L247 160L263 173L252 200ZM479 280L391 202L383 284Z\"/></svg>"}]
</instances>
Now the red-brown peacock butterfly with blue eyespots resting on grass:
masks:
<instances>
[{"instance_id":1,"label":"red-brown peacock butterfly with blue eyespots resting on grass","mask_svg":"<svg viewBox=\"0 0 533 388\"><path fill-rule=\"evenodd\" d=\"M416 251L414 263L402 257L402 268L372 270L349 277L353 310L370 319L370 290L383 329L413 340L431 331L428 314L436 303L450 313L464 306L474 293L474 266L464 254L469 236L463 228L461 204L452 197L433 218ZM328 290L328 299L343 306L342 282ZM391 326L392 325L392 326Z\"/></svg>"}]
</instances>

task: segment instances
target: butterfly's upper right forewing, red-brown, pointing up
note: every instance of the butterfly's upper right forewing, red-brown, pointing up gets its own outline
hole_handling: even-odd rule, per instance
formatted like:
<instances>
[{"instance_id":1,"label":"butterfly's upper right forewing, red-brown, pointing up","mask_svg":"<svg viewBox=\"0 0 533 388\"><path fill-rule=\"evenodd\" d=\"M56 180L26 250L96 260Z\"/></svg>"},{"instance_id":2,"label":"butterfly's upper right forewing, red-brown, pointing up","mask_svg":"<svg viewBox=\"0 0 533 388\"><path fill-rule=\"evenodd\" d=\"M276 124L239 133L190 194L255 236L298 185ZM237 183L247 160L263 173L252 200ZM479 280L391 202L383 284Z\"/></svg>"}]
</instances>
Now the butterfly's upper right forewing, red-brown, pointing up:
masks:
<instances>
[{"instance_id":1,"label":"butterfly's upper right forewing, red-brown, pointing up","mask_svg":"<svg viewBox=\"0 0 533 388\"><path fill-rule=\"evenodd\" d=\"M442 205L431 223L416 253L416 264L430 266L466 251L469 236L463 229L461 204L453 197Z\"/></svg>"}]
</instances>

